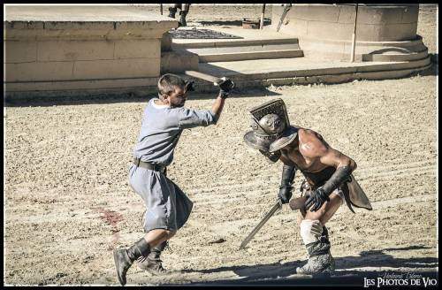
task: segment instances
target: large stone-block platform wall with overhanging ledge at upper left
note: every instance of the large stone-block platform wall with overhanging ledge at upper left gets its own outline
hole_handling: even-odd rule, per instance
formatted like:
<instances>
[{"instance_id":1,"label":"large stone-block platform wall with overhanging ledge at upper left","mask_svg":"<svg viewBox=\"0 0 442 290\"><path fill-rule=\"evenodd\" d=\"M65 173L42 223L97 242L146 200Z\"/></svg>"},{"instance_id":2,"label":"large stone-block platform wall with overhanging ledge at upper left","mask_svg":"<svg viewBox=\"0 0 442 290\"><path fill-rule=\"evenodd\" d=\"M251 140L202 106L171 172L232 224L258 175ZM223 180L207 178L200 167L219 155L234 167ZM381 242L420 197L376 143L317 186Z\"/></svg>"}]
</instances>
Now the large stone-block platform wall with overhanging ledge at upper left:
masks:
<instances>
[{"instance_id":1,"label":"large stone-block platform wall with overhanging ledge at upper left","mask_svg":"<svg viewBox=\"0 0 442 290\"><path fill-rule=\"evenodd\" d=\"M7 93L155 85L176 20L126 6L44 7L6 7Z\"/></svg>"}]
</instances>

